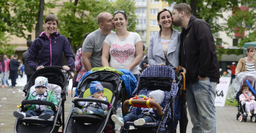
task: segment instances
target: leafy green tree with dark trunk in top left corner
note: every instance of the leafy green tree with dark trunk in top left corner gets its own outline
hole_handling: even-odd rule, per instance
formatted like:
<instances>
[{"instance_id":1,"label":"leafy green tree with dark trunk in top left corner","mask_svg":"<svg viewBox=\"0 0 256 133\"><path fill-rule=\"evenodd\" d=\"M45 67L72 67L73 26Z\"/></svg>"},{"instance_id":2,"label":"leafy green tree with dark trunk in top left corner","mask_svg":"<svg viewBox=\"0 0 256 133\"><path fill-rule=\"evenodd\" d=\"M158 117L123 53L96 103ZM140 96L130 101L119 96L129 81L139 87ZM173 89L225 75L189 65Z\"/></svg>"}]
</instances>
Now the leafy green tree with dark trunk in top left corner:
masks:
<instances>
[{"instance_id":1,"label":"leafy green tree with dark trunk in top left corner","mask_svg":"<svg viewBox=\"0 0 256 133\"><path fill-rule=\"evenodd\" d=\"M0 52L14 53L14 46L8 44L12 39L5 33L27 38L25 32L32 32L37 24L36 33L43 29L44 0L0 0ZM46 7L53 8L53 0L46 3ZM10 14L12 12L12 14ZM38 34L39 36L39 34ZM28 39L28 38L27 38Z\"/></svg>"}]
</instances>

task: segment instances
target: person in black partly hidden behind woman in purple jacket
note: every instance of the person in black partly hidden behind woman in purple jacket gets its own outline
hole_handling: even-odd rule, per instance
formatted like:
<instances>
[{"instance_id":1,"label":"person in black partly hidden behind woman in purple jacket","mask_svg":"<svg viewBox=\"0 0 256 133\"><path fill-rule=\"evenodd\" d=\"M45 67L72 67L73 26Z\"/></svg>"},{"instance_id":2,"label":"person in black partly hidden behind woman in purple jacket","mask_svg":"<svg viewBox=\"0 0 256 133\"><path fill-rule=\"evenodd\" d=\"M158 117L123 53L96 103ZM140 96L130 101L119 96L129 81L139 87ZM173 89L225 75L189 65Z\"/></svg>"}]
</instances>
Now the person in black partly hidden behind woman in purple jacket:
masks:
<instances>
[{"instance_id":1,"label":"person in black partly hidden behind woman in purple jacket","mask_svg":"<svg viewBox=\"0 0 256 133\"><path fill-rule=\"evenodd\" d=\"M28 40L27 41L27 46L28 46L28 50L29 50L29 47L31 46L32 44L32 40ZM25 51L23 54L22 54L22 62L23 64L25 65L25 74L27 75L27 83L31 77L31 75L34 73L34 71L27 65L27 58L28 58L28 50Z\"/></svg>"}]
</instances>

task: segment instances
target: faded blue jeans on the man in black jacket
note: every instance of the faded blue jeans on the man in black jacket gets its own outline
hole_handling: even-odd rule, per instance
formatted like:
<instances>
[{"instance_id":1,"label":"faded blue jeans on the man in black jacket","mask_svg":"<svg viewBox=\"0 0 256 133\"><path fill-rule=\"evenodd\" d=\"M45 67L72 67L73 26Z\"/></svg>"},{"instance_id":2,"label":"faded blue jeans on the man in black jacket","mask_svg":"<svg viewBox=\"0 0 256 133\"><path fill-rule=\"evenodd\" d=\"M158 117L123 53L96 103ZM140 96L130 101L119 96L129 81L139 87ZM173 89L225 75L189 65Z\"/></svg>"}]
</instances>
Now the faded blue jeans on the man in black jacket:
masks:
<instances>
[{"instance_id":1,"label":"faded blue jeans on the man in black jacket","mask_svg":"<svg viewBox=\"0 0 256 133\"><path fill-rule=\"evenodd\" d=\"M186 83L187 105L193 124L192 133L216 133L217 117L214 106L216 82L210 79Z\"/></svg>"}]
</instances>

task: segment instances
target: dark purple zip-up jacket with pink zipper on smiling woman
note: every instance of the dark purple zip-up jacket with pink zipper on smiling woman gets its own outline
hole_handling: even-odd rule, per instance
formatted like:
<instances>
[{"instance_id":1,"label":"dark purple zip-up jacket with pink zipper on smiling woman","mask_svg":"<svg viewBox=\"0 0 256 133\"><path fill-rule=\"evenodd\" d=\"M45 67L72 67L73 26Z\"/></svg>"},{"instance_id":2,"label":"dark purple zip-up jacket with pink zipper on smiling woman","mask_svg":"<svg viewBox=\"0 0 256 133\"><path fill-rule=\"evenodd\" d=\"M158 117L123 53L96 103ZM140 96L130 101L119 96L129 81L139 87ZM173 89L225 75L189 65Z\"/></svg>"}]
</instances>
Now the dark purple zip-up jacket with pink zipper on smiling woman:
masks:
<instances>
[{"instance_id":1,"label":"dark purple zip-up jacket with pink zipper on smiling woman","mask_svg":"<svg viewBox=\"0 0 256 133\"><path fill-rule=\"evenodd\" d=\"M74 68L75 57L68 39L58 31L50 38L42 32L31 44L28 51L27 64L36 71L39 66L62 66L62 54L65 54L70 71ZM38 57L38 63L36 59Z\"/></svg>"}]
</instances>

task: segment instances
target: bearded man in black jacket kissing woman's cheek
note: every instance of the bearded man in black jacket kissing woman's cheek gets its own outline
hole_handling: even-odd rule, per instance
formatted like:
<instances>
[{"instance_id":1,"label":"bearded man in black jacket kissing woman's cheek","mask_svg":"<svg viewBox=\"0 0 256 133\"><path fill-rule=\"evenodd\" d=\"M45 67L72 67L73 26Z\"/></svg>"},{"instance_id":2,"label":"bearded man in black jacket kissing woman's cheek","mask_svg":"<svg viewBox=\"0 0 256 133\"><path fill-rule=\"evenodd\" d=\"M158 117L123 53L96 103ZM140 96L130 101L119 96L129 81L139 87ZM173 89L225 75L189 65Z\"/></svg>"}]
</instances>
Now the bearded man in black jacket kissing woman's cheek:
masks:
<instances>
[{"instance_id":1,"label":"bearded man in black jacket kissing woman's cheek","mask_svg":"<svg viewBox=\"0 0 256 133\"><path fill-rule=\"evenodd\" d=\"M174 5L172 23L182 26L180 65L187 69L187 105L192 133L216 133L214 106L219 83L219 62L209 24L192 15L186 3Z\"/></svg>"}]
</instances>

